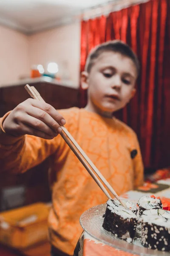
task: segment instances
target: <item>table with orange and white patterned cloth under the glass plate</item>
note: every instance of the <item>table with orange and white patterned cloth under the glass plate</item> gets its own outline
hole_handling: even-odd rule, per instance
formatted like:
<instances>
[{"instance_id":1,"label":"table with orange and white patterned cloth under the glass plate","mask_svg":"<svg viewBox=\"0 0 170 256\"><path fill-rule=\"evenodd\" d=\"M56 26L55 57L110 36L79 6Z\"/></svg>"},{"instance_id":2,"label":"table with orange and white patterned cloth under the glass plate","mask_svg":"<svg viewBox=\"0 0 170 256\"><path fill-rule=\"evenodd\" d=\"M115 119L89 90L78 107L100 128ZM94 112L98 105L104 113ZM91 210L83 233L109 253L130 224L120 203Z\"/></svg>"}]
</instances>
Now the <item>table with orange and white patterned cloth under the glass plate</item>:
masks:
<instances>
[{"instance_id":1,"label":"table with orange and white patterned cloth under the glass plate","mask_svg":"<svg viewBox=\"0 0 170 256\"><path fill-rule=\"evenodd\" d=\"M143 195L155 195L160 197L164 206L170 206L170 178L159 180L156 183L144 183L137 190L129 191L121 196L121 199L136 200ZM82 233L74 251L74 256L137 256L123 250L111 247L94 239L85 231Z\"/></svg>"}]
</instances>

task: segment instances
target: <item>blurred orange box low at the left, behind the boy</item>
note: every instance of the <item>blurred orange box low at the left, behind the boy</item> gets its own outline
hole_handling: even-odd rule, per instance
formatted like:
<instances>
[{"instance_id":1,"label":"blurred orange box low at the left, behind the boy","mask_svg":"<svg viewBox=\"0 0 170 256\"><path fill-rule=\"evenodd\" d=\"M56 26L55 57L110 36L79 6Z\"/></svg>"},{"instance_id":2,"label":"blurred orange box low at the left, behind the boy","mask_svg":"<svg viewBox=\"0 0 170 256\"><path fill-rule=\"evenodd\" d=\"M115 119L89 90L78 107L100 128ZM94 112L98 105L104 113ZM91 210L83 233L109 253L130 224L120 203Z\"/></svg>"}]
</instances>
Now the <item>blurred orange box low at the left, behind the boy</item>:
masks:
<instances>
[{"instance_id":1,"label":"blurred orange box low at the left, behind the boy","mask_svg":"<svg viewBox=\"0 0 170 256\"><path fill-rule=\"evenodd\" d=\"M48 240L49 207L42 203L12 209L0 214L0 243L26 248Z\"/></svg>"}]
</instances>

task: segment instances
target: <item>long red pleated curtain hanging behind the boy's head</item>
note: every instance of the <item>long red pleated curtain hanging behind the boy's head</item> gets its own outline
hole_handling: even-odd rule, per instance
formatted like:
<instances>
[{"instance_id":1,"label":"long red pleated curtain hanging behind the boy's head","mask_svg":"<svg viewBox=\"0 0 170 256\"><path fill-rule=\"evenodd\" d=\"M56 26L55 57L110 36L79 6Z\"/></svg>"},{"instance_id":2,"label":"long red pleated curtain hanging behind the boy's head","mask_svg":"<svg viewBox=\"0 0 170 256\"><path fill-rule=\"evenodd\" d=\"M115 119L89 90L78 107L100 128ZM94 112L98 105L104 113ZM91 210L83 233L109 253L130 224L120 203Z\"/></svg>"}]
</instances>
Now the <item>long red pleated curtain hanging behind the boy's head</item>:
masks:
<instances>
[{"instance_id":1,"label":"long red pleated curtain hanging behind the boy's head","mask_svg":"<svg viewBox=\"0 0 170 256\"><path fill-rule=\"evenodd\" d=\"M129 44L141 63L136 96L116 116L136 131L145 167L170 166L170 0L82 21L81 71L90 50L113 39ZM84 107L87 95L81 89L80 96Z\"/></svg>"}]
</instances>

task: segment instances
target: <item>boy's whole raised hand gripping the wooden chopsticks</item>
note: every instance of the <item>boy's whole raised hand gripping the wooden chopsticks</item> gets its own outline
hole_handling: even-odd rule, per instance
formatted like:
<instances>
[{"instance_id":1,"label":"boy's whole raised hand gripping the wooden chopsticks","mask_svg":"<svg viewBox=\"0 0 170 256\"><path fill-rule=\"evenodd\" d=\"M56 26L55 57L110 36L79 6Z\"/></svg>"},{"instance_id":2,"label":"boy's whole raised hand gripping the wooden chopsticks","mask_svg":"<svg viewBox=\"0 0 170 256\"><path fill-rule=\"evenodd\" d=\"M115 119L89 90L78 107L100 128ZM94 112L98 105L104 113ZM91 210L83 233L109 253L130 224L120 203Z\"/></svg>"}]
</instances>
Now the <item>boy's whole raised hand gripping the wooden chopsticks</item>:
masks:
<instances>
[{"instance_id":1,"label":"boy's whole raised hand gripping the wooden chopsticks","mask_svg":"<svg viewBox=\"0 0 170 256\"><path fill-rule=\"evenodd\" d=\"M16 137L30 134L50 140L62 131L59 125L65 125L65 119L55 108L36 99L27 99L6 117L3 129Z\"/></svg>"}]
</instances>

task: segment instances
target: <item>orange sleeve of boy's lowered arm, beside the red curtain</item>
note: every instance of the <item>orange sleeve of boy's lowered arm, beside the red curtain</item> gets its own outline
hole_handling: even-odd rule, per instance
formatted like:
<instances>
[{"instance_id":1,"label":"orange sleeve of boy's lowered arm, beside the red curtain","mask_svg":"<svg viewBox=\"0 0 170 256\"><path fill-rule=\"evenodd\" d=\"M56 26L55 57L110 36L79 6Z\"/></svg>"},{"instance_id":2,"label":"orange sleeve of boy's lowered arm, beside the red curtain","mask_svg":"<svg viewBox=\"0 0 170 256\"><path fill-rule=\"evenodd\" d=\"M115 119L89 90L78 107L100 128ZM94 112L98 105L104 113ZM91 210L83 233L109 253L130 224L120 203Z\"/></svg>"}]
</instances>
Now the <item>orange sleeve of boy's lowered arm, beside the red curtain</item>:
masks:
<instances>
[{"instance_id":1,"label":"orange sleeve of boy's lowered arm, beside the red curtain","mask_svg":"<svg viewBox=\"0 0 170 256\"><path fill-rule=\"evenodd\" d=\"M134 145L133 149L137 150L136 157L134 157L134 159L133 159L134 186L136 189L137 187L142 186L144 183L144 166L143 166L141 150L140 150L140 146L139 146L139 142L138 142L136 134L134 134L134 137L133 137L133 145Z\"/></svg>"}]
</instances>

